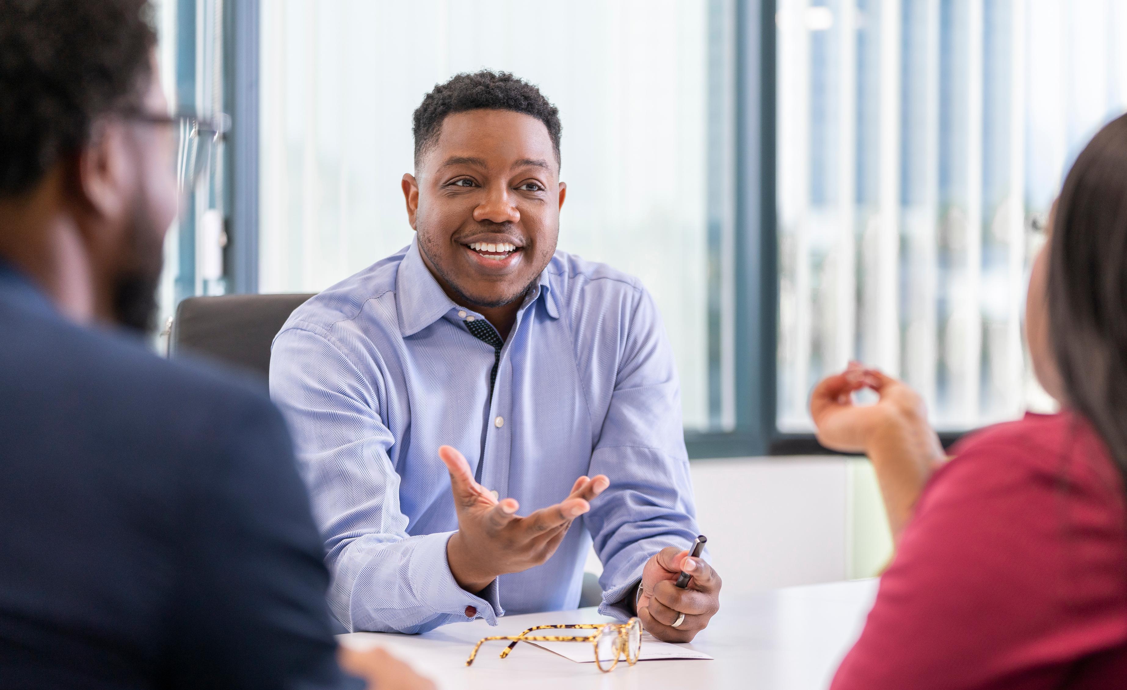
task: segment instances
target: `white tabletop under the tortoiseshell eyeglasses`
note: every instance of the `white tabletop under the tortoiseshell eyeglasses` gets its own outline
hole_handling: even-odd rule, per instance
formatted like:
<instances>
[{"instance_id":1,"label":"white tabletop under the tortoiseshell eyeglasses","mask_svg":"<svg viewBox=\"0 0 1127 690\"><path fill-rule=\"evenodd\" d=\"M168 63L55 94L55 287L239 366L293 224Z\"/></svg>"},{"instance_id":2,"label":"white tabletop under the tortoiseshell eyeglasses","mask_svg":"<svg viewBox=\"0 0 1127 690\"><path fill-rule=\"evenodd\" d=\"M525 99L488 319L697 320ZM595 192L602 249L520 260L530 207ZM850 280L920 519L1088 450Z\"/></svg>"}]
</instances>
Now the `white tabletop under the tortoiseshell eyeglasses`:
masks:
<instances>
[{"instance_id":1,"label":"white tabletop under the tortoiseshell eyeglasses","mask_svg":"<svg viewBox=\"0 0 1127 690\"><path fill-rule=\"evenodd\" d=\"M857 639L872 605L877 581L863 580L788 587L725 598L712 625L691 643L715 661L650 661L611 673L527 644L498 658L507 643L482 645L470 667L465 657L478 639L518 635L543 623L597 622L595 609L508 616L497 627L482 620L451 623L424 635L354 632L340 643L387 647L443 689L574 690L685 688L710 690L816 690L826 688L842 656ZM580 644L580 643L576 643Z\"/></svg>"}]
</instances>

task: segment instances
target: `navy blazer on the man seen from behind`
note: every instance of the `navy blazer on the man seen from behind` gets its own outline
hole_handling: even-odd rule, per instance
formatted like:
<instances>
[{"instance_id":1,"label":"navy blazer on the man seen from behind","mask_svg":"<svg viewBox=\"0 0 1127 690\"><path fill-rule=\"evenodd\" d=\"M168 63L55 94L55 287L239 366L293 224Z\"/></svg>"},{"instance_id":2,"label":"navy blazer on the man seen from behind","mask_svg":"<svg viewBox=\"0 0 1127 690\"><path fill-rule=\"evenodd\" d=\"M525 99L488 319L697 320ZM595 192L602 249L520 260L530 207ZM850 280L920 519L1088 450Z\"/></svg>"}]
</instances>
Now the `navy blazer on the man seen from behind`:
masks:
<instances>
[{"instance_id":1,"label":"navy blazer on the man seen from behind","mask_svg":"<svg viewBox=\"0 0 1127 690\"><path fill-rule=\"evenodd\" d=\"M0 688L337 688L282 417L0 263Z\"/></svg>"}]
</instances>

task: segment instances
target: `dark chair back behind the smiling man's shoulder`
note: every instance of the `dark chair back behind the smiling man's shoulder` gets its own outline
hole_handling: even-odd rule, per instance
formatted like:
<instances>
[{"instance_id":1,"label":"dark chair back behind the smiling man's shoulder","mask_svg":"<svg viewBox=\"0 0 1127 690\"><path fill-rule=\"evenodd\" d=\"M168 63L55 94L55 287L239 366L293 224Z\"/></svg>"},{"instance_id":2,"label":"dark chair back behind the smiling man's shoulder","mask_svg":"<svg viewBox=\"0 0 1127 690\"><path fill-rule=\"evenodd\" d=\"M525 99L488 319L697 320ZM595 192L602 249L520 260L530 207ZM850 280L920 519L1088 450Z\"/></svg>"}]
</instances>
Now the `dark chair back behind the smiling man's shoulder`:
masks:
<instances>
[{"instance_id":1,"label":"dark chair back behind the smiling man's shoulder","mask_svg":"<svg viewBox=\"0 0 1127 690\"><path fill-rule=\"evenodd\" d=\"M227 294L187 298L176 308L169 356L186 352L251 371L267 384L270 343L312 294Z\"/></svg>"}]
</instances>

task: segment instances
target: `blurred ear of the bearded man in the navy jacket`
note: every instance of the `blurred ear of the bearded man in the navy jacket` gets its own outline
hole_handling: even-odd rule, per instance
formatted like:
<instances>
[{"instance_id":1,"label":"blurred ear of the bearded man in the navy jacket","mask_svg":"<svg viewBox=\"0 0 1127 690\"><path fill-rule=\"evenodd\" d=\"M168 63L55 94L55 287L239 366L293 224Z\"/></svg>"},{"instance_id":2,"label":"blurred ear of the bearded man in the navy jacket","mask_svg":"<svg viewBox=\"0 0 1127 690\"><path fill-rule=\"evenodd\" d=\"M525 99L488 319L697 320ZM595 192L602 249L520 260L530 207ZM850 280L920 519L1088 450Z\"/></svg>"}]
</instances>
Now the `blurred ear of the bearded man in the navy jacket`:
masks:
<instances>
[{"instance_id":1,"label":"blurred ear of the bearded man in the navy jacket","mask_svg":"<svg viewBox=\"0 0 1127 690\"><path fill-rule=\"evenodd\" d=\"M119 123L97 126L91 142L78 154L77 192L87 212L118 222L130 209L128 143Z\"/></svg>"}]
</instances>

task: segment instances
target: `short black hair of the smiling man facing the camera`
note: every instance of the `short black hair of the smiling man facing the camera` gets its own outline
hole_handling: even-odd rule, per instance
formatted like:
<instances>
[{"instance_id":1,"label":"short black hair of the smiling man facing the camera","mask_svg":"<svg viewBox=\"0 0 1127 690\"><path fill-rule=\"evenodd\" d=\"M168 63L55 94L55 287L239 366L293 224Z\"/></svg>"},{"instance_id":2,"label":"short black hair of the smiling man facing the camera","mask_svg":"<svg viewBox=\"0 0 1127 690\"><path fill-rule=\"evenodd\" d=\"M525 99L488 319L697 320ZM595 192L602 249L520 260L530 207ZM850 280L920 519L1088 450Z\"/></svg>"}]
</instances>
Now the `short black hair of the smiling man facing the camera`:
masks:
<instances>
[{"instance_id":1,"label":"short black hair of the smiling man facing the camera","mask_svg":"<svg viewBox=\"0 0 1127 690\"><path fill-rule=\"evenodd\" d=\"M477 109L513 110L544 123L559 165L562 131L559 109L527 81L508 72L489 70L455 74L446 83L436 83L423 98L415 109L415 165L418 166L423 152L437 139L446 115Z\"/></svg>"}]
</instances>

